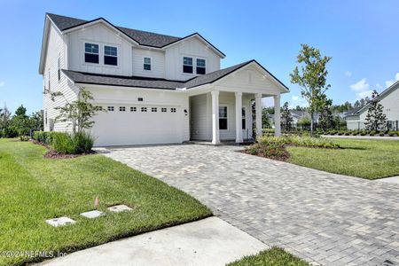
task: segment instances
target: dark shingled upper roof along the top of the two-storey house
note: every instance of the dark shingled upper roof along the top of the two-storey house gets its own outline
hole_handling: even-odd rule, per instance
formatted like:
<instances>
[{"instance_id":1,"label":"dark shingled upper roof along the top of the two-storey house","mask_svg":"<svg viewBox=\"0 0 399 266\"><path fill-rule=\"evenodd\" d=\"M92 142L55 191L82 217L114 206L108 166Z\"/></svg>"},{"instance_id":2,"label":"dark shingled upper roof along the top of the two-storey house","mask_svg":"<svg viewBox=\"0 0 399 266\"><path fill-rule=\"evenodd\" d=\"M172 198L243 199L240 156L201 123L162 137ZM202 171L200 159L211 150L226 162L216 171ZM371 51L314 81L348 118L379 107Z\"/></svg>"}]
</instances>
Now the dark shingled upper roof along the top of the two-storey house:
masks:
<instances>
[{"instance_id":1,"label":"dark shingled upper roof along the top of the two-storey house","mask_svg":"<svg viewBox=\"0 0 399 266\"><path fill-rule=\"evenodd\" d=\"M185 37L176 37L171 35L161 35L153 32L148 32L128 27L114 26L112 23L110 23L108 20L104 18L98 18L95 20L80 20L51 13L47 13L47 16L54 22L54 24L56 25L56 27L59 28L60 31L70 30L73 29L74 27L80 27L89 23L103 20L106 21L106 23L109 24L111 27L114 27L116 30L121 31L121 33L128 36L131 40L135 41L139 45L154 47L154 48L164 48L168 45L172 45L177 42L183 41L187 38L191 38L193 35L198 35L200 39L202 39L202 41L204 41L205 43L209 44L216 51L216 53L219 53L220 56L225 57L222 51L218 50L212 43L207 42L207 40L198 33L187 35Z\"/></svg>"}]
</instances>

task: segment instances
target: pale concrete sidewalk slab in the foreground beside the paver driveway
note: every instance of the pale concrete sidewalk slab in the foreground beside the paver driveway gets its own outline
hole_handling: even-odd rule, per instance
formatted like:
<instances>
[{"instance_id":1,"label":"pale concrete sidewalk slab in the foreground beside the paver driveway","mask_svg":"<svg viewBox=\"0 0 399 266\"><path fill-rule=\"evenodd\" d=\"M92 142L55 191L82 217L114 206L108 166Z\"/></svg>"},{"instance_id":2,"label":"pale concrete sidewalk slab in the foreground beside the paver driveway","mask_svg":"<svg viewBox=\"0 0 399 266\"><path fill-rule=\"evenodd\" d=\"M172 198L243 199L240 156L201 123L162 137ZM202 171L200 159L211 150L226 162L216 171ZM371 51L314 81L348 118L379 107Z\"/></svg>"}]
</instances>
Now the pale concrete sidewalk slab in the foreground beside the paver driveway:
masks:
<instances>
[{"instance_id":1,"label":"pale concrete sidewalk slab in the foreground beside the paver driveway","mask_svg":"<svg viewBox=\"0 0 399 266\"><path fill-rule=\"evenodd\" d=\"M225 265L269 246L217 217L152 231L40 265Z\"/></svg>"}]
</instances>

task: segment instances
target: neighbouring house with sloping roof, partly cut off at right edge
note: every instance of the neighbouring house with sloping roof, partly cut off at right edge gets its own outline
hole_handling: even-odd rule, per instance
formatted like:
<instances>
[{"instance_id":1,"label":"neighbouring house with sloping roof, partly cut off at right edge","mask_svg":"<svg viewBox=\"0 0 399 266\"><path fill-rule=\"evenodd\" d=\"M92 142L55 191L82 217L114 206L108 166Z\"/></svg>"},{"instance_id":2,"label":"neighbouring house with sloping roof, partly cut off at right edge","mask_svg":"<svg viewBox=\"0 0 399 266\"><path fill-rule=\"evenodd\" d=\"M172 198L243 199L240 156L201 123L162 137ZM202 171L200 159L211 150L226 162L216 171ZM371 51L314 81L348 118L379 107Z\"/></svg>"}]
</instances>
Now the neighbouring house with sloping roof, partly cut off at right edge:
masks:
<instances>
[{"instance_id":1,"label":"neighbouring house with sloping roof, partly cut off at right edge","mask_svg":"<svg viewBox=\"0 0 399 266\"><path fill-rule=\"evenodd\" d=\"M382 91L375 100L384 107L384 113L387 115L387 129L398 130L399 124L399 82L395 82L387 90ZM364 129L365 118L369 110L370 103L354 109L345 117L348 129Z\"/></svg>"}]
</instances>

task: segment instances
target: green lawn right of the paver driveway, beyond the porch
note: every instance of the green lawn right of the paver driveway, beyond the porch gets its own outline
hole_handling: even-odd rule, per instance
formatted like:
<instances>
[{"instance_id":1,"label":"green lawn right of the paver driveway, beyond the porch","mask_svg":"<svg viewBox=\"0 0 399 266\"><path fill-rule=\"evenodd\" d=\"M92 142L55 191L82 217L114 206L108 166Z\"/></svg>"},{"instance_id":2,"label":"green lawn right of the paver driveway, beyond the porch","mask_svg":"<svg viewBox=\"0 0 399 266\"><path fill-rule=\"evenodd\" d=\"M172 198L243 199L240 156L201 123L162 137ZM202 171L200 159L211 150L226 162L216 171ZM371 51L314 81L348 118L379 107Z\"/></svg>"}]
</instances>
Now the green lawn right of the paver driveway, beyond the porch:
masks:
<instances>
[{"instance_id":1,"label":"green lawn right of the paver driveway, beyond the porch","mask_svg":"<svg viewBox=\"0 0 399 266\"><path fill-rule=\"evenodd\" d=\"M331 173L377 179L399 176L399 141L334 139L343 149L288 146L288 162Z\"/></svg>"}]
</instances>

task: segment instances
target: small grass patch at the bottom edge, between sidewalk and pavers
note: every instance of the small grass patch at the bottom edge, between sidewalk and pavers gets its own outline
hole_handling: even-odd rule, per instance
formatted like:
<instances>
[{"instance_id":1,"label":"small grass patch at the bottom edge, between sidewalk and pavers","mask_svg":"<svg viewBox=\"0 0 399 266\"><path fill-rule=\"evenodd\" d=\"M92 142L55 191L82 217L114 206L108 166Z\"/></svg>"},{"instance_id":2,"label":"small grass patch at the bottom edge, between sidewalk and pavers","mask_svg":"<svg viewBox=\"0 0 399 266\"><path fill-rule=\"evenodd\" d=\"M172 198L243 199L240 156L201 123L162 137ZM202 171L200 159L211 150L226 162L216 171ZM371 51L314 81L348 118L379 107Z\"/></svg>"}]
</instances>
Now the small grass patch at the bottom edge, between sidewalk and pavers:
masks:
<instances>
[{"instance_id":1,"label":"small grass patch at the bottom edge, between sidewalk and pavers","mask_svg":"<svg viewBox=\"0 0 399 266\"><path fill-rule=\"evenodd\" d=\"M245 256L239 261L231 262L228 266L307 266L308 262L286 253L284 249L272 247L259 254Z\"/></svg>"}]
</instances>

